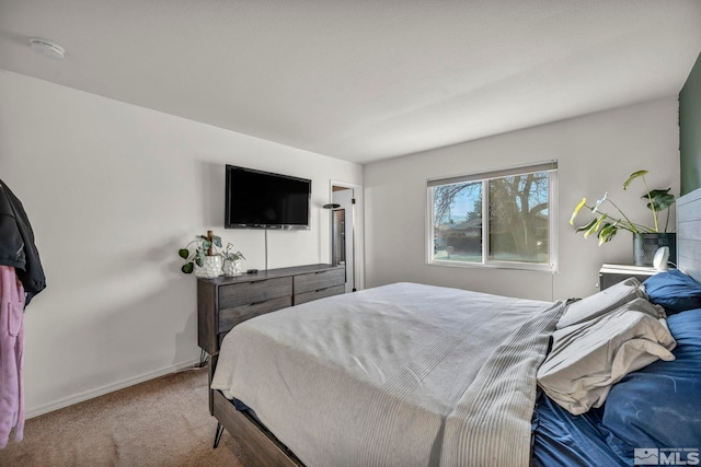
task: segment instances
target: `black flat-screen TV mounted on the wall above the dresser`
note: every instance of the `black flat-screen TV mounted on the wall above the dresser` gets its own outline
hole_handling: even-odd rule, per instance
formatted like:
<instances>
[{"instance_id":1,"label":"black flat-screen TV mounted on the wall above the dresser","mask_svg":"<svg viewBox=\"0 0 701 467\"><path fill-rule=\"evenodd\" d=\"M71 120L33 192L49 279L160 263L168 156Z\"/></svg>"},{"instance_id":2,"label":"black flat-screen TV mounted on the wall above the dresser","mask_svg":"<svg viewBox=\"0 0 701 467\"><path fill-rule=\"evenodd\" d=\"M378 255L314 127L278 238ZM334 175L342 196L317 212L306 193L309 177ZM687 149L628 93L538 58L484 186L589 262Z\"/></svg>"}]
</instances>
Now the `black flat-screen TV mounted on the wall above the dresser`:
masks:
<instances>
[{"instance_id":1,"label":"black flat-screen TV mounted on the wall above the dresser","mask_svg":"<svg viewBox=\"0 0 701 467\"><path fill-rule=\"evenodd\" d=\"M309 229L311 180L227 165L226 229Z\"/></svg>"}]
</instances>

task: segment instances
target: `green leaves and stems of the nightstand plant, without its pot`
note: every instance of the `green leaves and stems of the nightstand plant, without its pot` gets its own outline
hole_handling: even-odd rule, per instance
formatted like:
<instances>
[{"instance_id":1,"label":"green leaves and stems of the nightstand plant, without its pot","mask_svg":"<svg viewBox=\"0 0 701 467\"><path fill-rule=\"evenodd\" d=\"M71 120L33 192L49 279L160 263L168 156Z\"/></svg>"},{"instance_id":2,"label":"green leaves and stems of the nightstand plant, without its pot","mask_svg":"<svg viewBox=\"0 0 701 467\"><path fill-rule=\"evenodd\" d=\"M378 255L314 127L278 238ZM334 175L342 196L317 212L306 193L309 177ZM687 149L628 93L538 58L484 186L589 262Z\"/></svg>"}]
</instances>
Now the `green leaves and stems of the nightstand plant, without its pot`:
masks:
<instances>
[{"instance_id":1,"label":"green leaves and stems of the nightstand plant, without its pot","mask_svg":"<svg viewBox=\"0 0 701 467\"><path fill-rule=\"evenodd\" d=\"M645 180L645 175L647 171L637 171L633 172L630 177L623 183L623 189L628 190L629 186L633 180L640 178L645 185L645 194L641 197L641 199L647 201L647 209L652 211L653 217L653 225L642 225L635 222L632 222L628 215L623 213L623 211L609 199L609 194L606 192L602 198L598 199L594 206L587 205L587 199L582 198L582 201L574 208L574 212L572 213L572 218L570 219L570 224L574 225L574 220L576 219L579 211L584 208L588 209L596 215L596 218L578 227L576 227L576 232L584 232L584 237L587 238L589 235L596 234L599 238L599 246L604 245L607 242L610 242L616 233L619 230L624 230L632 232L634 234L637 233L660 233L667 232L669 227L669 207L675 202L675 196L669 194L671 188L667 189L650 189L647 186L647 182ZM605 212L601 207L608 202L611 205L616 211L616 214L611 215L608 212ZM658 215L662 211L667 211L667 219L665 221L664 230L660 230Z\"/></svg>"}]
</instances>

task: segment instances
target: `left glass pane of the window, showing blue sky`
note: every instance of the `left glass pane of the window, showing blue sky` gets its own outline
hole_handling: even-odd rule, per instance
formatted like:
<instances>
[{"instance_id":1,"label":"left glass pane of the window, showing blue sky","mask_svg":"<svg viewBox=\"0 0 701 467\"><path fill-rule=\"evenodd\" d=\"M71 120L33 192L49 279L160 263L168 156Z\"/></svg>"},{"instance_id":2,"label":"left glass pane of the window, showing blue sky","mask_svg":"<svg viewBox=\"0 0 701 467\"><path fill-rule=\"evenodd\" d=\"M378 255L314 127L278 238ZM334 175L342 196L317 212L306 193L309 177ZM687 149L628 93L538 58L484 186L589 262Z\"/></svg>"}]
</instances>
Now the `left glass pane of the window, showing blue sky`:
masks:
<instances>
[{"instance_id":1,"label":"left glass pane of the window, showing blue sky","mask_svg":"<svg viewBox=\"0 0 701 467\"><path fill-rule=\"evenodd\" d=\"M433 259L482 262L482 182L434 186Z\"/></svg>"}]
</instances>

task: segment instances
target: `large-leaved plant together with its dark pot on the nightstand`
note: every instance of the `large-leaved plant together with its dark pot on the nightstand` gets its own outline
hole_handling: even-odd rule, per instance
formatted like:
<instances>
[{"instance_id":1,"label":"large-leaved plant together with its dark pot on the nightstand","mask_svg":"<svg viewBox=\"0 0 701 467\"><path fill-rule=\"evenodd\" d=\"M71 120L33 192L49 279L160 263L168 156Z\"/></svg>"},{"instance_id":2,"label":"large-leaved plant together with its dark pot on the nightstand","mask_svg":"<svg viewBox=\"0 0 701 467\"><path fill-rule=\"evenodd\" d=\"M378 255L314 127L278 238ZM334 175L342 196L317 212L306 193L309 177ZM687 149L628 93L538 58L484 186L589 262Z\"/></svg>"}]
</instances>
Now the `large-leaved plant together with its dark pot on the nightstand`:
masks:
<instances>
[{"instance_id":1,"label":"large-leaved plant together with its dark pot on the nightstand","mask_svg":"<svg viewBox=\"0 0 701 467\"><path fill-rule=\"evenodd\" d=\"M633 172L623 183L623 189L628 190L633 180L640 178L645 186L645 194L641 199L646 201L647 209L652 211L652 225L643 225L632 222L625 213L608 198L608 192L598 199L594 206L587 205L587 199L575 207L570 224L574 225L574 220L584 208L590 210L596 218L590 222L576 227L576 232L584 232L584 237L596 234L599 238L599 246L610 242L619 230L629 231L633 234L633 256L636 266L652 266L656 250L660 246L669 247L669 256L676 257L676 235L668 232L669 229L669 207L674 205L675 197L667 189L650 189L645 175L647 171ZM604 203L611 205L617 212L610 214L602 210ZM664 226L659 222L659 214L667 211Z\"/></svg>"}]
</instances>

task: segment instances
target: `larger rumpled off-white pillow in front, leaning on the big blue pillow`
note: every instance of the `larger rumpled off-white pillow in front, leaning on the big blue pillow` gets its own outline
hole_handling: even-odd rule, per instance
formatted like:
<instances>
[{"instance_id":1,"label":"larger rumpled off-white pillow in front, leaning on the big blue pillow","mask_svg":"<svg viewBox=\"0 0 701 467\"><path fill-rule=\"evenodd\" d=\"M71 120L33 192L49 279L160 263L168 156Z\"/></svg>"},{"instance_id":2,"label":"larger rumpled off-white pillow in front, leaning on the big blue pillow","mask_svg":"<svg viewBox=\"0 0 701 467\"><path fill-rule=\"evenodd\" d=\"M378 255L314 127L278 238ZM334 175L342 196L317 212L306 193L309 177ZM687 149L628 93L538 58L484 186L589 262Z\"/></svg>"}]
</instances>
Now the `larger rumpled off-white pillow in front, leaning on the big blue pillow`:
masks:
<instances>
[{"instance_id":1,"label":"larger rumpled off-white pillow in front, leaning on the big blue pillow","mask_svg":"<svg viewBox=\"0 0 701 467\"><path fill-rule=\"evenodd\" d=\"M607 314L558 329L538 370L545 394L573 415L600 407L611 385L658 359L674 360L664 311L635 299Z\"/></svg>"}]
</instances>

